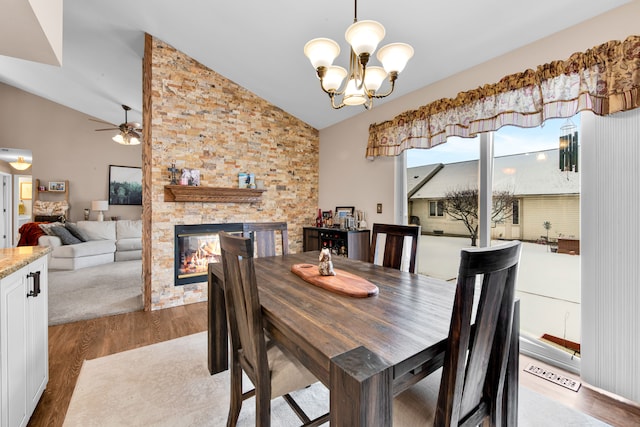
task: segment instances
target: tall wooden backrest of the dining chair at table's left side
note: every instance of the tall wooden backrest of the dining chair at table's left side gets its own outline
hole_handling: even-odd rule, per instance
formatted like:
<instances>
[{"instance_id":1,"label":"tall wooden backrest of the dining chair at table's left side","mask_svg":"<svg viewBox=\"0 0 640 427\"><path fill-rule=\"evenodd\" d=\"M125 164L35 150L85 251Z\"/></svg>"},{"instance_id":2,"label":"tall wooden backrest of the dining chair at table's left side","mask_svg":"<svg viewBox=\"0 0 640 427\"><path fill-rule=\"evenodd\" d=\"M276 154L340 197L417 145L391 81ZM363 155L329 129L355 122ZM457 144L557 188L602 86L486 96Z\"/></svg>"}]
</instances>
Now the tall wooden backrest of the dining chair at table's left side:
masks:
<instances>
[{"instance_id":1,"label":"tall wooden backrest of the dining chair at table's left side","mask_svg":"<svg viewBox=\"0 0 640 427\"><path fill-rule=\"evenodd\" d=\"M243 368L255 375L268 362L253 246L251 239L245 237L226 232L220 232L219 237L232 351L244 359Z\"/></svg>"}]
</instances>

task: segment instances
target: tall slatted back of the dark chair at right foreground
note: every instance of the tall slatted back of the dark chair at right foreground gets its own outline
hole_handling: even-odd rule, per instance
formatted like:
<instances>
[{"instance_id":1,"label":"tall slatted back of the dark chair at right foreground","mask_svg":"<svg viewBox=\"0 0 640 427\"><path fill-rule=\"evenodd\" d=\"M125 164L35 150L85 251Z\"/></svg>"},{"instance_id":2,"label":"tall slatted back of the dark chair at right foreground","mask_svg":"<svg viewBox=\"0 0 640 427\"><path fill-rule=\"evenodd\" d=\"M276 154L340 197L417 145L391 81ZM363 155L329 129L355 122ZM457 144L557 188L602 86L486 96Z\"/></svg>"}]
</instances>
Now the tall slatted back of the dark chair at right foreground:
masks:
<instances>
[{"instance_id":1,"label":"tall slatted back of the dark chair at right foreground","mask_svg":"<svg viewBox=\"0 0 640 427\"><path fill-rule=\"evenodd\" d=\"M512 333L520 247L520 242L510 242L461 251L435 425L457 426L466 419L483 419L499 405Z\"/></svg>"}]
</instances>

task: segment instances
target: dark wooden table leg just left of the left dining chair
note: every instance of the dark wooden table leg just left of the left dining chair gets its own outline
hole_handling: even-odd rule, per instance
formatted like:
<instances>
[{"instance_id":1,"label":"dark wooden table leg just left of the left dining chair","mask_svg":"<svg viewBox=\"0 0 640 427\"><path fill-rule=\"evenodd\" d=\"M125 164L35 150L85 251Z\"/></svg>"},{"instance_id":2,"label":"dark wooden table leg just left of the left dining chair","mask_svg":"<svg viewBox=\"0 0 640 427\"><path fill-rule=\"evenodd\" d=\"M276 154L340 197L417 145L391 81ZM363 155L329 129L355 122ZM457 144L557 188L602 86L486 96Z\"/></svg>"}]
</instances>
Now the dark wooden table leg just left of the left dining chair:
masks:
<instances>
[{"instance_id":1,"label":"dark wooden table leg just left of the left dining chair","mask_svg":"<svg viewBox=\"0 0 640 427\"><path fill-rule=\"evenodd\" d=\"M211 272L211 264L209 264L208 277L207 353L209 373L213 375L229 368L229 339L227 336L227 310L225 308L224 291L220 281Z\"/></svg>"}]
</instances>

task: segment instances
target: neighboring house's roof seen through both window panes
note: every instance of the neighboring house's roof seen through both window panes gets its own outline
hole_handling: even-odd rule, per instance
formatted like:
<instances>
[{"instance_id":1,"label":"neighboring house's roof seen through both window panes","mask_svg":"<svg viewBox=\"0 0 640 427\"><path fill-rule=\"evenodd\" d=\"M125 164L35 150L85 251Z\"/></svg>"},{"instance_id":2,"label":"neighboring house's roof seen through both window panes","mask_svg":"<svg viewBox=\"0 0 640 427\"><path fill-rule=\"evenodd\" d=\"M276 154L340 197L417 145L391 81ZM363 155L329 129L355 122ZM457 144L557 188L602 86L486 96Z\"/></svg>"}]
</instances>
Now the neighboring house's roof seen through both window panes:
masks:
<instances>
[{"instance_id":1,"label":"neighboring house's roof seen through both window panes","mask_svg":"<svg viewBox=\"0 0 640 427\"><path fill-rule=\"evenodd\" d=\"M558 163L557 149L496 157L493 187L497 191L510 191L516 196L580 194L580 173L562 172ZM438 165L408 168L407 188L411 189L409 177ZM421 170L414 172L414 169ZM438 169L409 198L438 199L444 197L447 191L477 187L477 160L449 163Z\"/></svg>"}]
</instances>

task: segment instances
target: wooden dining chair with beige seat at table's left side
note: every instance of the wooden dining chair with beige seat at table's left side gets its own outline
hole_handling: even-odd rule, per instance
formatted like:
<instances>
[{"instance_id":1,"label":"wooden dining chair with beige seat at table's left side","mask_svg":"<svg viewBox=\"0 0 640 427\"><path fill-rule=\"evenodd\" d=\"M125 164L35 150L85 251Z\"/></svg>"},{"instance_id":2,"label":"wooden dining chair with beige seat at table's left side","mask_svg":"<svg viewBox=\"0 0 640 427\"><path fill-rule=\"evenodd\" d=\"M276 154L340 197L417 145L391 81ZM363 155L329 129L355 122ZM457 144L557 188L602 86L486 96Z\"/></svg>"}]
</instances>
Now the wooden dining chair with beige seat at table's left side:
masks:
<instances>
[{"instance_id":1,"label":"wooden dining chair with beige seat at table's left side","mask_svg":"<svg viewBox=\"0 0 640 427\"><path fill-rule=\"evenodd\" d=\"M253 396L256 426L270 425L271 399L279 396L291 406L304 426L326 422L329 414L310 420L289 395L317 382L317 378L295 357L288 357L274 341L266 339L251 239L226 232L220 232L219 237L231 338L231 402L227 426L236 425L243 400ZM243 371L254 385L253 390L245 393L242 392Z\"/></svg>"}]
</instances>

